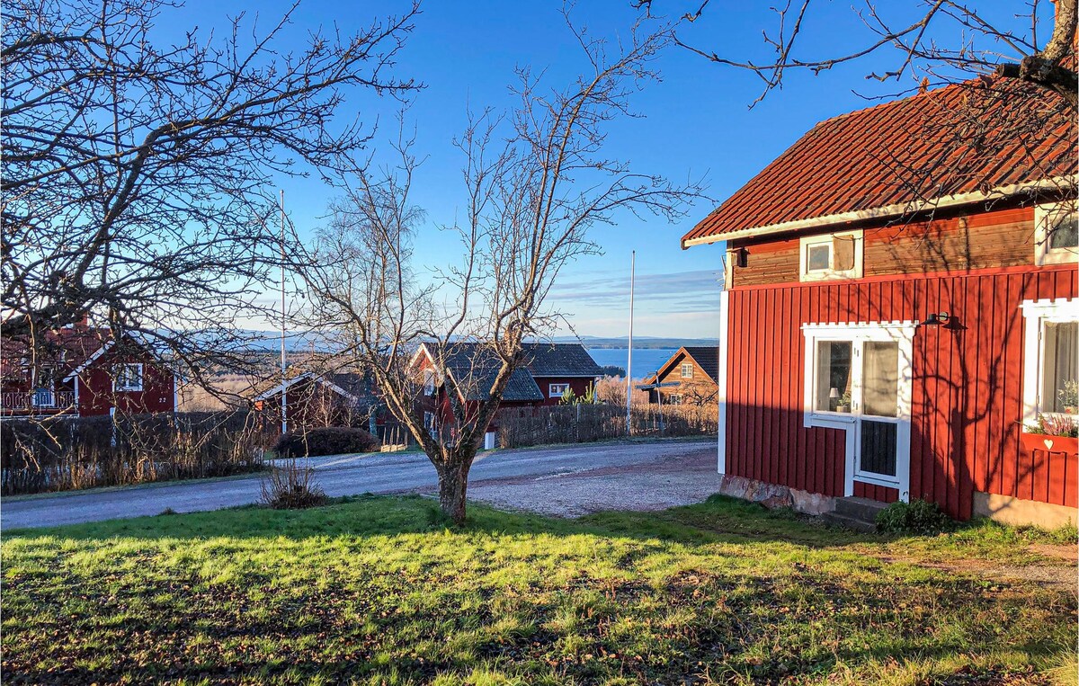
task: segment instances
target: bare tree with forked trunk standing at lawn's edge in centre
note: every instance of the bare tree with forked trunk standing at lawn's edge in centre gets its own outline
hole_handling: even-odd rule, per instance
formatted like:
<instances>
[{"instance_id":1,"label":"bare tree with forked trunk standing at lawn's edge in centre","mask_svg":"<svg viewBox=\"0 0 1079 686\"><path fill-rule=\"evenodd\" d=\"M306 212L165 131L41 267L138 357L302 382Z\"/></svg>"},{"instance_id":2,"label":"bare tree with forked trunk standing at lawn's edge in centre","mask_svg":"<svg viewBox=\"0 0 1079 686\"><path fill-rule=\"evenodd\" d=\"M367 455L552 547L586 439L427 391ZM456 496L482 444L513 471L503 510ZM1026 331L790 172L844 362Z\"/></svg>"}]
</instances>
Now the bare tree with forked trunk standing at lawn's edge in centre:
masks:
<instances>
[{"instance_id":1,"label":"bare tree with forked trunk standing at lawn's edge in centre","mask_svg":"<svg viewBox=\"0 0 1079 686\"><path fill-rule=\"evenodd\" d=\"M445 229L460 238L459 263L436 270L429 283L411 273L422 215L410 200L416 159L402 137L399 163L358 175L315 255L299 265L312 315L324 330L343 332L344 355L372 370L388 411L438 471L442 511L455 522L465 518L483 434L524 373L522 342L559 320L546 302L551 285L570 261L597 250L589 230L623 211L681 216L700 192L698 183L677 186L604 155L606 126L633 115L630 96L656 77L652 63L669 35L634 30L612 54L573 30L586 73L548 91L519 70L517 107L472 116L456 141L464 218ZM416 361L421 343L429 362Z\"/></svg>"}]
</instances>

